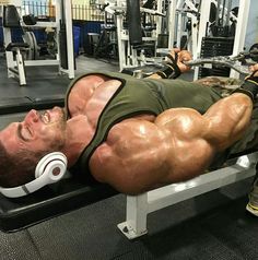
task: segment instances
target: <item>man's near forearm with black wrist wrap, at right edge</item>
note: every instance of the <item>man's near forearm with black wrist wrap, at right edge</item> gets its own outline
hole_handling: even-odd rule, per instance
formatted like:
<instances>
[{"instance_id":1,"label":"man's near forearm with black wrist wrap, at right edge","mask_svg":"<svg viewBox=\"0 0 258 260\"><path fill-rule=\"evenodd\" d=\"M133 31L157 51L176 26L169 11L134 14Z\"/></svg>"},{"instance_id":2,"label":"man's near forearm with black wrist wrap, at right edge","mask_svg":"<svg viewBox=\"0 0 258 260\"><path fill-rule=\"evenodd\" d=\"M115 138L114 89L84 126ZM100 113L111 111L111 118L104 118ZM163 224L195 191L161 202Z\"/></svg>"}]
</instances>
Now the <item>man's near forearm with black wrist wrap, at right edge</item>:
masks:
<instances>
[{"instance_id":1,"label":"man's near forearm with black wrist wrap, at right edge","mask_svg":"<svg viewBox=\"0 0 258 260\"><path fill-rule=\"evenodd\" d=\"M219 101L206 113L204 117L209 118L213 129L211 137L219 149L227 147L242 137L249 126L257 94L258 73L254 71L231 96Z\"/></svg>"}]
</instances>

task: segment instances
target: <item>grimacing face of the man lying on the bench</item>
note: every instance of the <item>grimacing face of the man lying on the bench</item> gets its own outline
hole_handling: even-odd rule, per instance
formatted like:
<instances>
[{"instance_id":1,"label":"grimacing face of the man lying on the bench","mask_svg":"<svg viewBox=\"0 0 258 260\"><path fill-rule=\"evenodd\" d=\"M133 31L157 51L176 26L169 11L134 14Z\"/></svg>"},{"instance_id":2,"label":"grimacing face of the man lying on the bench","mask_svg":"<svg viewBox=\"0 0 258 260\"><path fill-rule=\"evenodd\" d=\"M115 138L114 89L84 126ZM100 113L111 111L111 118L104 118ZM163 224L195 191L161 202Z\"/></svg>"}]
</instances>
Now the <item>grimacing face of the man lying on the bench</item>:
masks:
<instances>
[{"instance_id":1,"label":"grimacing face of the man lying on the bench","mask_svg":"<svg viewBox=\"0 0 258 260\"><path fill-rule=\"evenodd\" d=\"M31 110L22 122L10 123L0 132L0 140L11 154L21 149L49 151L64 142L66 118L60 107L39 114ZM49 151L51 152L51 151Z\"/></svg>"}]
</instances>

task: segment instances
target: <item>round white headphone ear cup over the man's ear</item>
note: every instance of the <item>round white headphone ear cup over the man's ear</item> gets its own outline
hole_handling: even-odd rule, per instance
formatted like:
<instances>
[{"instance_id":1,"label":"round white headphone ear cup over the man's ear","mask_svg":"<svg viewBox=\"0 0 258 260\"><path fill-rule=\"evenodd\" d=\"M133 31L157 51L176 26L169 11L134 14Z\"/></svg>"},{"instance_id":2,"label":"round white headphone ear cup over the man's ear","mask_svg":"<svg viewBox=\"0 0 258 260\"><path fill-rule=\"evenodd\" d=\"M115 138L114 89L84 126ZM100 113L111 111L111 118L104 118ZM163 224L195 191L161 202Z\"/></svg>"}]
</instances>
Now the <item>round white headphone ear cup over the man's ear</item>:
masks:
<instances>
[{"instance_id":1,"label":"round white headphone ear cup over the man's ear","mask_svg":"<svg viewBox=\"0 0 258 260\"><path fill-rule=\"evenodd\" d=\"M66 170L67 170L66 155L60 152L52 152L45 155L38 162L35 169L35 178L37 179L44 175L44 179L47 179L47 184L51 184L61 179Z\"/></svg>"}]
</instances>

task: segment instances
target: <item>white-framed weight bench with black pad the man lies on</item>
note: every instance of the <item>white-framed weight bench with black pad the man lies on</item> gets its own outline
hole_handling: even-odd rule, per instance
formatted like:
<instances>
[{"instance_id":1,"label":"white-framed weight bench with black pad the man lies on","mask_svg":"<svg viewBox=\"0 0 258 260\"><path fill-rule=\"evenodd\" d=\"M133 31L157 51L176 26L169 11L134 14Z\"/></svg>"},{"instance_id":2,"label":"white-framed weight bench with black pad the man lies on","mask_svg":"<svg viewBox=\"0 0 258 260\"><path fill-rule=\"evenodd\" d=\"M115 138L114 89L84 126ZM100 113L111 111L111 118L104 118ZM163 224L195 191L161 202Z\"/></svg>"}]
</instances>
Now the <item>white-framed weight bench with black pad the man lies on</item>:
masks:
<instances>
[{"instance_id":1,"label":"white-framed weight bench with black pad the man lies on","mask_svg":"<svg viewBox=\"0 0 258 260\"><path fill-rule=\"evenodd\" d=\"M119 229L129 239L146 234L149 213L254 176L258 152L243 155L230 166L189 181L127 196L126 222L118 224ZM115 194L118 192L108 185L89 182L83 176L68 173L61 181L26 197L9 199L0 194L0 229L20 231Z\"/></svg>"}]
</instances>

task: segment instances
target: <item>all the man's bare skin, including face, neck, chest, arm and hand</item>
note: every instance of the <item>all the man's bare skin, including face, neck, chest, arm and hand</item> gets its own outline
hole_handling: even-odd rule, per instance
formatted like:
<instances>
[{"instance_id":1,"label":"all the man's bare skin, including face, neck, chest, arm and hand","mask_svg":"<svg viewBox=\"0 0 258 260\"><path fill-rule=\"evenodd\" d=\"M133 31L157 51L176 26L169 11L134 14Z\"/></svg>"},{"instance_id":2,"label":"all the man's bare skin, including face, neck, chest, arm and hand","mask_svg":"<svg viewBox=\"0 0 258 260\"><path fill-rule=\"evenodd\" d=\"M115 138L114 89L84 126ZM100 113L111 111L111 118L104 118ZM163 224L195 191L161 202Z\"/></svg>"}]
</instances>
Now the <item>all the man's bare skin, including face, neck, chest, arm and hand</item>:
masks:
<instances>
[{"instance_id":1,"label":"all the man's bare skin, including face, neck, chest, arm and hand","mask_svg":"<svg viewBox=\"0 0 258 260\"><path fill-rule=\"evenodd\" d=\"M181 61L189 60L190 55L180 51L178 57L177 64L184 72L189 68ZM23 151L40 155L60 151L70 167L93 139L99 115L120 84L99 74L86 75L70 92L68 120L60 107L44 114L31 110L23 121L3 129L0 141L11 155L22 154L23 159ZM251 99L235 93L212 105L204 115L174 108L157 117L126 119L108 131L106 141L91 156L91 174L129 194L192 178L206 170L215 153L242 137L251 110Z\"/></svg>"}]
</instances>

